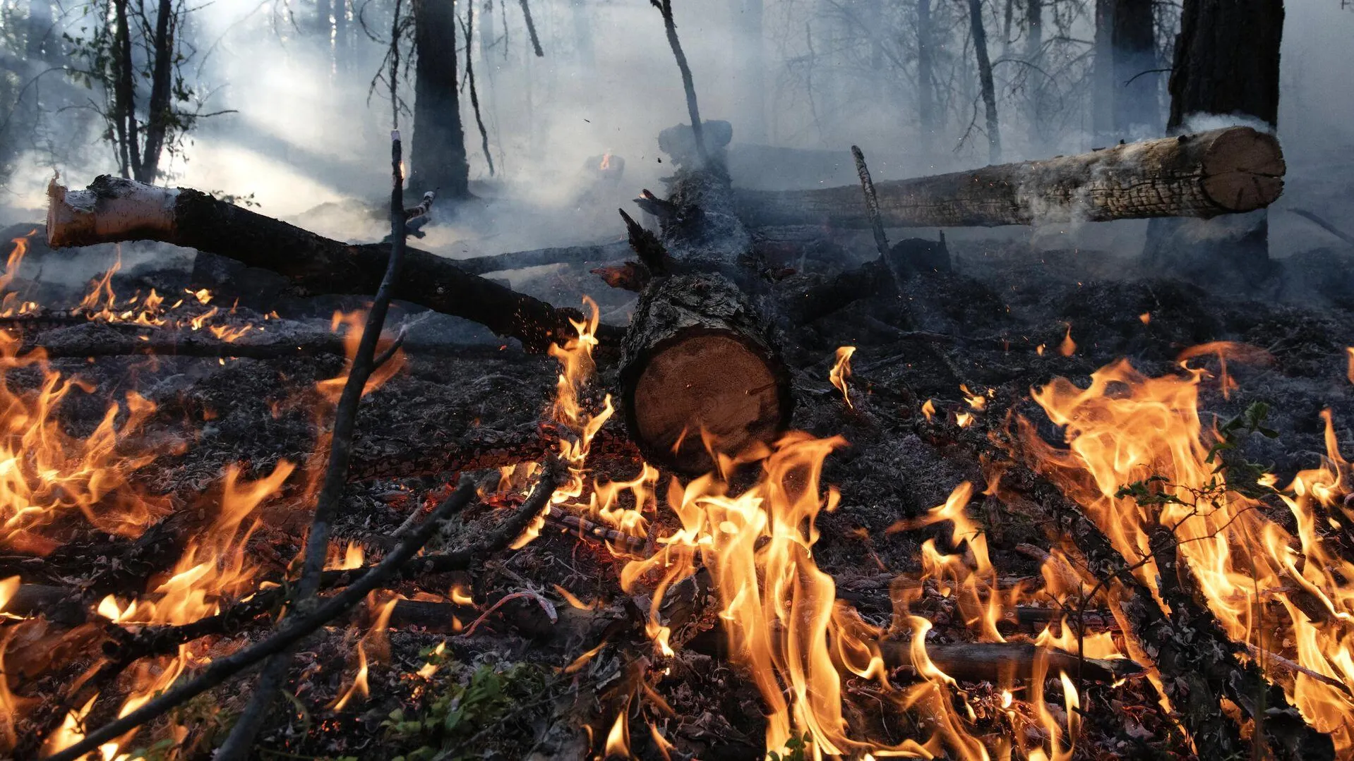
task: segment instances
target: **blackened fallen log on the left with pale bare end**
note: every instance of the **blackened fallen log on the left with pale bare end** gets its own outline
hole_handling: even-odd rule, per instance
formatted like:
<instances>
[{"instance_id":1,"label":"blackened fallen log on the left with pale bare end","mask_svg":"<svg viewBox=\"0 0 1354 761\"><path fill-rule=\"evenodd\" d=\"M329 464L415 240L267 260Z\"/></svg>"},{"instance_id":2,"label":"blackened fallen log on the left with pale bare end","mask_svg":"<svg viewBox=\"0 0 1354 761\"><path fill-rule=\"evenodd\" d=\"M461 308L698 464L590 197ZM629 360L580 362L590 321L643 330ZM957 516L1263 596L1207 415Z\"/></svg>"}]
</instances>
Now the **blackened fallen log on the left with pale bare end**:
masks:
<instances>
[{"instance_id":1,"label":"blackened fallen log on the left with pale bare end","mask_svg":"<svg viewBox=\"0 0 1354 761\"><path fill-rule=\"evenodd\" d=\"M389 258L387 243L341 243L187 188L100 176L87 191L68 192L53 181L47 199L54 249L161 241L276 272L303 293L375 293ZM581 318L417 249L408 249L395 297L477 322L536 353L571 337L569 320ZM617 334L603 326L598 338Z\"/></svg>"}]
</instances>

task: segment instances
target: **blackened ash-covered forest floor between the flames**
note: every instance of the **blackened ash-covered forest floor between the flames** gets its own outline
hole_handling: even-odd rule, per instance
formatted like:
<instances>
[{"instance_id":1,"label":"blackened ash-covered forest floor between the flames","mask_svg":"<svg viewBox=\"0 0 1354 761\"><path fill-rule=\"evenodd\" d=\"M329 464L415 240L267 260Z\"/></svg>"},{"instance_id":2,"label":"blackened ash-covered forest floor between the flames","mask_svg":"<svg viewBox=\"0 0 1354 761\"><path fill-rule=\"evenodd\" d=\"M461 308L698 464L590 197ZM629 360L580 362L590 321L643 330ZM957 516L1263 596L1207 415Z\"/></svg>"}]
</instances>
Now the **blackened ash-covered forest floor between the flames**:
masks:
<instances>
[{"instance_id":1,"label":"blackened ash-covered forest floor between the flames","mask_svg":"<svg viewBox=\"0 0 1354 761\"><path fill-rule=\"evenodd\" d=\"M838 243L858 260L869 255L871 247L861 239ZM795 427L822 437L841 434L849 442L825 469L825 480L841 491L841 504L819 516L822 537L814 558L837 580L839 596L852 600L875 624L887 629L892 619L890 579L915 576L921 542L946 531L944 526L902 533L886 529L941 504L960 481L983 484L976 442L984 441L990 430L1005 428L1007 411L1025 415L1041 426L1049 441L1059 441L1057 431L1029 401L1029 389L1053 377L1085 385L1091 372L1120 357L1147 374L1170 373L1189 346L1244 342L1265 349L1273 362L1231 362L1228 372L1238 388L1224 397L1219 373L1213 373L1202 397L1206 414L1217 419L1236 415L1254 401L1269 403L1267 424L1280 435L1248 439L1248 457L1273 464L1284 483L1296 470L1317 465L1324 451L1319 416L1324 408L1334 414L1339 439L1354 442L1354 384L1347 377L1345 349L1354 346L1354 257L1347 251L1286 260L1281 283L1257 285L1248 295L1140 277L1131 258L1091 251L1032 251L988 241L952 242L951 254L953 272L927 272L909 280L903 297L865 299L816 323L793 326L784 335L796 378ZM830 274L830 268L818 266ZM203 274L200 265L198 274ZM150 287L179 292L203 284L194 280L188 266L145 262L114 278L119 293ZM630 296L607 292L586 272L562 268L519 284L559 305L573 305L584 293L598 296L604 312L613 315L609 319L624 315ZM43 303L61 304L79 292L65 285L66 291L60 292L45 287ZM210 285L219 300L229 303L236 296L229 277ZM253 288L238 293L241 305L229 320L263 320L264 311L274 307L259 303L260 292ZM272 333L267 338L303 345L318 341L328 333L329 312L359 305L355 299L279 296L282 319L267 323ZM554 395L554 360L527 355L478 326L414 308L397 310L391 330L399 322L412 326L406 361L363 401L353 478L334 529L337 542L364 546L368 561L389 550L391 533L412 511L445 493L463 469L473 469L470 474L485 484L487 504L467 512L444 543L474 543L516 499L494 492L497 466L539 460L540 442L548 445L551 435L540 424ZM53 346L95 341L100 327L45 327L27 338ZM1063 355L1059 347L1068 335L1075 350ZM833 353L842 345L857 347L850 381L854 408L844 404L827 380ZM598 355L598 365L604 385L605 353ZM1216 361L1202 357L1196 365L1216 368ZM338 376L344 358L332 351L269 360L156 355L99 357L91 362L66 357L53 360L53 366L92 387L89 393L72 395L62 407L62 419L73 434L91 430L110 400L122 400L127 392L156 403L150 422L119 446L162 453L137 473L137 481L150 492L168 495L175 508L188 515L184 534L191 535L194 520L204 526L210 519L214 489L229 465L242 464L255 476L282 460L317 466L313 461L320 423L328 419L329 407L315 384ZM8 381L34 384L38 377L11 372ZM974 393L992 389L986 411L976 414L968 428L955 423L955 414L967 410L961 385ZM926 400L937 411L934 420L922 416ZM623 438L619 416L608 430ZM624 447L600 453L593 465L604 478L631 478L639 470L638 460ZM294 476L283 493L260 510L263 523L248 547L260 579L282 577L301 549L313 507L305 497L305 472ZM995 499L980 499L974 508L990 531L999 574L1037 576L1037 561L1014 547L1041 542L1039 529L1022 523ZM661 534L673 524L672 515L659 511L655 531ZM110 541L88 533L79 538ZM627 708L630 746L640 758L662 757L646 725L663 730L676 745L673 757L758 757L765 708L746 674L730 665L718 630L718 606L697 612L677 656L657 658L643 631L650 600L620 589L624 562L603 543L551 524L524 549L501 553L470 572L401 585L398 592L406 597L421 596L443 607L432 607L432 618L409 614L401 620L395 615L389 646L367 641L370 697L353 699L338 711L332 708L352 683L356 642L367 633L380 600L302 647L287 697L278 700L260 735L268 750L259 757L422 758L436 754L425 747L433 738L436 752L448 750L451 758L574 758L584 757L589 747L600 750L616 715ZM80 576L77 565L50 562L51 577L31 581L69 581ZM153 585L161 577L162 569L149 570L142 581ZM30 581L27 576L24 580ZM452 587L473 600L456 597L459 603L447 603ZM589 610L570 604L561 589ZM130 597L137 591L121 592ZM533 592L548 600L556 620L539 602L517 597L485 615L474 633L466 634L471 622L515 592ZM463 627L460 633L447 620L451 614ZM265 633L264 622L259 622L234 641ZM936 635L940 641L972 638L959 620L941 620ZM233 647L229 642L199 642L194 647L203 654L223 653ZM586 665L563 670L603 642L607 646ZM432 654L440 643L441 654ZM429 662L436 672L427 679L416 676ZM175 715L190 726L190 757L206 758L211 742L223 737L233 714L252 692L252 679L214 691ZM979 712L979 726L997 731L998 691L990 684L964 687ZM42 683L34 683L31 695L38 696L41 688ZM925 726L883 710L869 681L846 679L845 688L857 711L849 719L862 734L892 742L927 734ZM645 695L661 700L640 699ZM102 723L118 703L100 700L89 720ZM662 703L670 712L658 707ZM1171 723L1133 683L1089 687L1082 706L1078 757L1189 754Z\"/></svg>"}]
</instances>

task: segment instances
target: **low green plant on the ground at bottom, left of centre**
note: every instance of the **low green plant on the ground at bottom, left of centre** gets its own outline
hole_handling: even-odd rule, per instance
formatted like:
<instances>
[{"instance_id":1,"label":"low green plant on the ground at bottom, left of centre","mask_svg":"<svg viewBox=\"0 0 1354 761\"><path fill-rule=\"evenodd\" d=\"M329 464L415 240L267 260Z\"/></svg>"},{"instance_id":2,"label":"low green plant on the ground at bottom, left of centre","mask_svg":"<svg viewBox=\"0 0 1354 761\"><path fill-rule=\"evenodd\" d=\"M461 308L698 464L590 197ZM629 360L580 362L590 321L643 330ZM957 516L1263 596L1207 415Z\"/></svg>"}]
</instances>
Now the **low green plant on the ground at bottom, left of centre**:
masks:
<instances>
[{"instance_id":1,"label":"low green plant on the ground at bottom, left of centre","mask_svg":"<svg viewBox=\"0 0 1354 761\"><path fill-rule=\"evenodd\" d=\"M429 652L429 660L439 656ZM414 750L394 761L431 761L432 758L471 758L471 749L463 743L481 730L509 718L523 702L539 695L544 679L539 668L517 664L497 670L481 665L463 685L451 685L437 695L417 715L395 708L382 722L390 739L401 745L416 745Z\"/></svg>"}]
</instances>

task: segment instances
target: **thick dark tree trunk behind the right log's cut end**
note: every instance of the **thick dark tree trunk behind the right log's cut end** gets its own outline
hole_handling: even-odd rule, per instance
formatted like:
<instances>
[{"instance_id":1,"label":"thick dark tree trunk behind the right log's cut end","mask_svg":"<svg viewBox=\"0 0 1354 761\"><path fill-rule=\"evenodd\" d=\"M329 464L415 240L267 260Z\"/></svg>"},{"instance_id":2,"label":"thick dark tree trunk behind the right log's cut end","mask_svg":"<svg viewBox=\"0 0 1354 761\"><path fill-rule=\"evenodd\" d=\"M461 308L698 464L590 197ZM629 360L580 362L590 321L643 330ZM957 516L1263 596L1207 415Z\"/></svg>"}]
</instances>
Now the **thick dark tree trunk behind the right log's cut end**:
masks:
<instances>
[{"instance_id":1,"label":"thick dark tree trunk behind the right log's cut end","mask_svg":"<svg viewBox=\"0 0 1354 761\"><path fill-rule=\"evenodd\" d=\"M1282 0L1185 0L1171 70L1167 130L1196 114L1278 123ZM1247 288L1274 270L1269 216L1219 223L1158 223L1148 264L1192 280Z\"/></svg>"}]
</instances>

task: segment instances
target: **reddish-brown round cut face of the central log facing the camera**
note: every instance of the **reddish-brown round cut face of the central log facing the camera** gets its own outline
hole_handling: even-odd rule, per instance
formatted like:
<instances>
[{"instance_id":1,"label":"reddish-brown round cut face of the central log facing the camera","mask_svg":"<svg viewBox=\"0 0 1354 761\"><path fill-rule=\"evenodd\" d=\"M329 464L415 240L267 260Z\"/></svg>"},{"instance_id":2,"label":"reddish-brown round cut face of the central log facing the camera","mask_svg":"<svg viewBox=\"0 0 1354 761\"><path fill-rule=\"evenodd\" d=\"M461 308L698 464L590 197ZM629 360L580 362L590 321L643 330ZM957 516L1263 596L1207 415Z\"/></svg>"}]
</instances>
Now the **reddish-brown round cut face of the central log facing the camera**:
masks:
<instances>
[{"instance_id":1,"label":"reddish-brown round cut face of the central log facing the camera","mask_svg":"<svg viewBox=\"0 0 1354 761\"><path fill-rule=\"evenodd\" d=\"M696 333L657 349L635 384L635 427L684 472L708 469L709 438L737 453L772 441L783 428L776 373L766 357L733 334Z\"/></svg>"}]
</instances>

